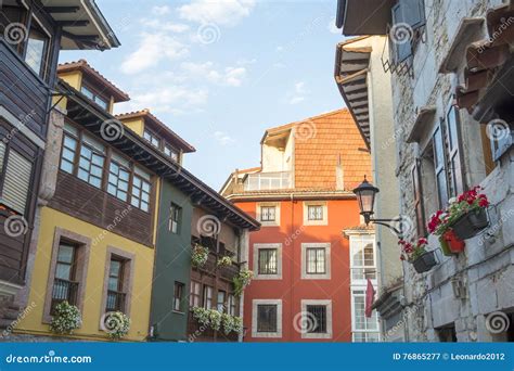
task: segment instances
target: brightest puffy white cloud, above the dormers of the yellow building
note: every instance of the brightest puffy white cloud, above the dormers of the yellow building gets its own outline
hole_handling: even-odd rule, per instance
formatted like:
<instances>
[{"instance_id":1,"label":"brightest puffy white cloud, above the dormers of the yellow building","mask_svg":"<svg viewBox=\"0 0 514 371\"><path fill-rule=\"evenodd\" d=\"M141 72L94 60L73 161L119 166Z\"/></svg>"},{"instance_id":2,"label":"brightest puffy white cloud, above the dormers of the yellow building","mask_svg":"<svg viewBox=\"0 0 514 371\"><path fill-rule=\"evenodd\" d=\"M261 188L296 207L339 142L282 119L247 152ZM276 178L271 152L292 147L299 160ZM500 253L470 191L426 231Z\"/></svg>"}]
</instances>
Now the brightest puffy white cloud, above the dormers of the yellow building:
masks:
<instances>
[{"instance_id":1,"label":"brightest puffy white cloud, above the dormers of the yellow building","mask_svg":"<svg viewBox=\"0 0 514 371\"><path fill-rule=\"evenodd\" d=\"M189 54L188 47L166 34L142 34L138 50L121 64L125 74L137 74L162 60L175 61Z\"/></svg>"}]
</instances>

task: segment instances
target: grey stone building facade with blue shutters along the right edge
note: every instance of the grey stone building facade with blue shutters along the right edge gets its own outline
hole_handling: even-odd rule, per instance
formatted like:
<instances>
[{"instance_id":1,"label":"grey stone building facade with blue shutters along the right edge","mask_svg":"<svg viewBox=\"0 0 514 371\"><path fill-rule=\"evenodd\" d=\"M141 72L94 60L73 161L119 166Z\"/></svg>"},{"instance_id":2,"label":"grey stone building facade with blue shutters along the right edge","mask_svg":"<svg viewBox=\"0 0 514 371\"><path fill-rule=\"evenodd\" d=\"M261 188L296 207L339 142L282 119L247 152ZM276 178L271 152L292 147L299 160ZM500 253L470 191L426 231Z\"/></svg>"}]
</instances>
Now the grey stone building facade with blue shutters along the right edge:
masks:
<instances>
[{"instance_id":1,"label":"grey stone building facade with blue shutters along the right edge","mask_svg":"<svg viewBox=\"0 0 514 371\"><path fill-rule=\"evenodd\" d=\"M426 235L428 250L439 250L425 227L433 213L475 186L490 201L489 227L465 240L463 253L439 250L438 265L421 274L403 263L409 284L398 322L406 340L513 341L514 8L499 0L400 0L378 9L373 24L356 26L352 12L365 13L358 8L339 1L343 33L385 34L393 46L383 63L391 73L400 213L412 226L406 238Z\"/></svg>"}]
</instances>

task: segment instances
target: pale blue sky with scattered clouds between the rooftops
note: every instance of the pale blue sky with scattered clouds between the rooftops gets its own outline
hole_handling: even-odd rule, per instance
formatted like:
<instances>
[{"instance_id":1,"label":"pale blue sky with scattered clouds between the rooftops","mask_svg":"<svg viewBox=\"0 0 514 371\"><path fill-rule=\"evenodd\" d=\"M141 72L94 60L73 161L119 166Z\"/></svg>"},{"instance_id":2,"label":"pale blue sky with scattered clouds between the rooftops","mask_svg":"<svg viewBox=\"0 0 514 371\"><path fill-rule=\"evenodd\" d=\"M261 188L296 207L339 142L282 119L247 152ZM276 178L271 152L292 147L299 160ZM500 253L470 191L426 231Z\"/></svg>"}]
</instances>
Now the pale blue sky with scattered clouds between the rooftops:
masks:
<instances>
[{"instance_id":1,"label":"pale blue sky with scattered clouds between the rooftops","mask_svg":"<svg viewBox=\"0 0 514 371\"><path fill-rule=\"evenodd\" d=\"M100 71L196 148L184 166L219 189L258 166L266 128L340 108L336 1L97 0L118 49L63 52ZM144 7L142 7L144 4Z\"/></svg>"}]
</instances>

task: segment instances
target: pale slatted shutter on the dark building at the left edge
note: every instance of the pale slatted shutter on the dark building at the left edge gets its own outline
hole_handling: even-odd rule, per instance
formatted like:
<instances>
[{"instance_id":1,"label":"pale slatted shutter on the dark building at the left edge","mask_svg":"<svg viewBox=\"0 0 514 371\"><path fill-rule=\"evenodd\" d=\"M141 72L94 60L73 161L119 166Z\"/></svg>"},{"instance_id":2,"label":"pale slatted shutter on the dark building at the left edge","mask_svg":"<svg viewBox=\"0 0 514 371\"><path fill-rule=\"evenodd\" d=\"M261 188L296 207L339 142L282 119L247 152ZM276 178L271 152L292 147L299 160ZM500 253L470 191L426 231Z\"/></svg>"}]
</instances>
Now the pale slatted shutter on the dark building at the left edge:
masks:
<instances>
[{"instance_id":1,"label":"pale slatted shutter on the dark building at the left edge","mask_svg":"<svg viewBox=\"0 0 514 371\"><path fill-rule=\"evenodd\" d=\"M11 149L5 167L2 201L7 206L22 214L25 213L31 171L33 164Z\"/></svg>"}]
</instances>

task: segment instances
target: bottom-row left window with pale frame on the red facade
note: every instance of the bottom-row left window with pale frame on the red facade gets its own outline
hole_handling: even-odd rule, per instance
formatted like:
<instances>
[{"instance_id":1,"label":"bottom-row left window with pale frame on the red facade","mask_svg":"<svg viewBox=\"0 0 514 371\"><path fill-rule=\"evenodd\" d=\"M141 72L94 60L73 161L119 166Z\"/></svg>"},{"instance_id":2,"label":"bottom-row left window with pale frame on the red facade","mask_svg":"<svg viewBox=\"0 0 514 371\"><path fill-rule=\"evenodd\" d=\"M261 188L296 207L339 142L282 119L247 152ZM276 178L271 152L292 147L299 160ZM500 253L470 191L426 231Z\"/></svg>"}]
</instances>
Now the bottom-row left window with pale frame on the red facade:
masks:
<instances>
[{"instance_id":1,"label":"bottom-row left window with pale frame on the red facade","mask_svg":"<svg viewBox=\"0 0 514 371\"><path fill-rule=\"evenodd\" d=\"M252 300L252 337L282 337L282 299Z\"/></svg>"}]
</instances>

